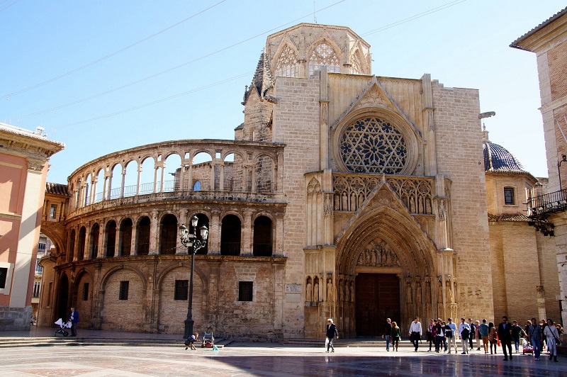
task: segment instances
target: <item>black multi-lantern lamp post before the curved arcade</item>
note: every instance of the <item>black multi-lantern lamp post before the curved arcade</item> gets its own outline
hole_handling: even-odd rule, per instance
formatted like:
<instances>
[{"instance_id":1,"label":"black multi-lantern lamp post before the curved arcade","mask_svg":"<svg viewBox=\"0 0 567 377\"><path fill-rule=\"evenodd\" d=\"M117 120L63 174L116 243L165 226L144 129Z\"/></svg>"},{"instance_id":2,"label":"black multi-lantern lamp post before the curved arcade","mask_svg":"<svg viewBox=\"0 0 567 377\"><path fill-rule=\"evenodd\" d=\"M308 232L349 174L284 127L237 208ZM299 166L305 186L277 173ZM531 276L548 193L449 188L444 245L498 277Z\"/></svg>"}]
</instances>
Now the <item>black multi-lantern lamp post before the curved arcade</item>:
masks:
<instances>
[{"instance_id":1,"label":"black multi-lantern lamp post before the curved arcade","mask_svg":"<svg viewBox=\"0 0 567 377\"><path fill-rule=\"evenodd\" d=\"M208 229L205 225L199 228L201 233L201 240L197 240L197 223L198 218L196 215L193 215L191 218L191 225L189 225L189 229L185 226L185 224L181 224L179 227L179 239L181 240L181 244L187 248L187 252L191 254L191 280L189 280L189 305L187 307L187 319L185 320L185 332L184 338L191 337L193 334L193 313L192 313L192 306L193 306L193 271L195 270L195 254L203 249L207 244L207 237L208 237ZM191 232L191 228L193 228L193 232Z\"/></svg>"}]
</instances>

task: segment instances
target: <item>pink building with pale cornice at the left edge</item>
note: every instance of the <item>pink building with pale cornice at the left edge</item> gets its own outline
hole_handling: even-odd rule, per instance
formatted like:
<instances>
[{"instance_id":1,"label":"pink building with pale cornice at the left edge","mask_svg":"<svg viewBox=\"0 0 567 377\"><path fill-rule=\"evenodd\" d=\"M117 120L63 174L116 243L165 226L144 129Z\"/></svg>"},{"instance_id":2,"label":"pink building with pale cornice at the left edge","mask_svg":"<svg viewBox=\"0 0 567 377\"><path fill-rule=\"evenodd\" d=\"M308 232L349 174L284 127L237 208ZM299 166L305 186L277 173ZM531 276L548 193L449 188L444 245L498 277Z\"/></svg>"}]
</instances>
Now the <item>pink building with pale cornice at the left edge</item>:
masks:
<instances>
[{"instance_id":1,"label":"pink building with pale cornice at the left edge","mask_svg":"<svg viewBox=\"0 0 567 377\"><path fill-rule=\"evenodd\" d=\"M64 148L42 132L0 123L0 330L30 327L47 162Z\"/></svg>"}]
</instances>

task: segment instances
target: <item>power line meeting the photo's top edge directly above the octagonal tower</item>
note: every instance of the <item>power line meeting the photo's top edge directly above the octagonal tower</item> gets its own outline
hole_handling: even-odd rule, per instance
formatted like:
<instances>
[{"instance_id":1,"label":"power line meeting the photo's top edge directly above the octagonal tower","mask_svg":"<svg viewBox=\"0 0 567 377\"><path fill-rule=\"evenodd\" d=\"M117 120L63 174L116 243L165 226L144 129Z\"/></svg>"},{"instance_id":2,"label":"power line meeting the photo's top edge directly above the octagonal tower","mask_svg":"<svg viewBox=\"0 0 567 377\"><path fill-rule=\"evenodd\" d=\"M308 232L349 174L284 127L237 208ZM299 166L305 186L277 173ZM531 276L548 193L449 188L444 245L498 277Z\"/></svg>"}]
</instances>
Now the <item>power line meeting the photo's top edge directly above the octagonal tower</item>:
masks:
<instances>
[{"instance_id":1,"label":"power line meeting the photo's top edge directly above the octagonal tower","mask_svg":"<svg viewBox=\"0 0 567 377\"><path fill-rule=\"evenodd\" d=\"M332 7L332 6L335 6L335 5L339 4L339 3L342 3L342 2L344 2L344 1L346 1L346 0L337 1L335 4L331 4L330 6L326 6L325 8L322 8L322 9L319 9L318 11L315 11L315 13L318 13L318 12L320 12L320 11L324 11L325 9L328 9L328 8L330 8L330 7ZM290 23L295 23L295 22L297 22L297 21L299 21L299 20L301 20L301 19L303 19L303 18L305 18L305 17L312 16L312 15L313 15L313 13L309 13L308 15L305 15L305 16L300 17L300 18L296 18L296 19L293 20L293 21L289 21L288 23L284 23L284 24L281 25L281 26L276 26L276 27L273 28L273 29L270 29L270 30L265 31L264 33L260 33L260 34L254 35L253 37L247 38L247 39L242 40L242 41L240 41L240 42L238 42L238 43L235 43L235 44L233 44L233 45L230 45L230 46L228 46L228 47L223 47L223 48L221 48L220 50L216 50L216 51L214 51L214 52L210 52L210 53L207 54L207 55L203 55L203 56L201 56L201 57L197 57L197 58L195 58L195 59L193 59L193 60L189 60L188 62L184 62L184 63L181 63L181 64L179 64L179 65L176 65L175 67L171 67L171 68L168 68L168 69L164 69L163 71L157 72L157 73L152 74L152 75L147 76L147 77L143 77L142 79L138 79L138 80L136 80L136 81L131 81L131 82L129 82L128 84L124 84L124 85L122 85L122 86L117 86L116 88L109 89L108 91L103 91L103 92L101 92L101 93L99 93L99 94L94 94L94 95L89 96L89 97L86 97L86 98L84 98L84 99L79 99L79 100L77 100L77 101L65 103L65 104L60 105L60 106L53 106L52 108L46 108L46 109L44 109L44 110L36 111L35 113L29 113L29 114L26 114L26 115L24 115L24 116L18 116L18 117L16 117L16 118L18 118L18 119L23 119L23 118L28 118L28 117L30 117L30 116L38 116L38 115L40 115L40 114L48 113L48 112L50 112L50 111L57 111L57 110L60 109L60 108L66 108L66 107L68 107L68 106L76 105L77 103L82 103L82 102L84 102L84 101L89 101L89 100L91 100L91 99L95 99L95 98L100 97L100 96L103 96L103 95L105 95L105 94L110 94L110 93L112 93L113 91L118 91L118 90L120 90L120 89L127 88L128 86L132 86L132 85L134 85L134 84L139 84L139 83L142 82L142 81L146 81L146 80L149 80L149 79L153 79L154 77L160 76L160 75L162 75L162 74L166 74L167 72L172 72L172 71L174 71L175 69L179 69L179 68L181 68L181 67L185 67L186 65L192 64L192 63L194 63L194 62L198 62L199 60L203 60L203 59L205 59L206 57L210 57L210 56L212 56L212 55L216 55L216 54L218 54L219 52L223 52L223 51L225 51L225 50L229 50L229 49L232 48L232 47L235 47L235 46L237 46L237 45L241 45L242 43L246 43L246 42L248 42L249 40L253 40L254 38L258 38L258 37L260 37L260 36L262 36L262 35L265 35L265 34L267 34L267 33L271 33L271 32L274 31L274 30L279 30L280 28L283 28L284 26L287 26L287 25L289 25ZM0 99L1 99L1 98L3 98L3 97L0 97ZM5 96L4 98L6 98L6 96Z\"/></svg>"}]
</instances>

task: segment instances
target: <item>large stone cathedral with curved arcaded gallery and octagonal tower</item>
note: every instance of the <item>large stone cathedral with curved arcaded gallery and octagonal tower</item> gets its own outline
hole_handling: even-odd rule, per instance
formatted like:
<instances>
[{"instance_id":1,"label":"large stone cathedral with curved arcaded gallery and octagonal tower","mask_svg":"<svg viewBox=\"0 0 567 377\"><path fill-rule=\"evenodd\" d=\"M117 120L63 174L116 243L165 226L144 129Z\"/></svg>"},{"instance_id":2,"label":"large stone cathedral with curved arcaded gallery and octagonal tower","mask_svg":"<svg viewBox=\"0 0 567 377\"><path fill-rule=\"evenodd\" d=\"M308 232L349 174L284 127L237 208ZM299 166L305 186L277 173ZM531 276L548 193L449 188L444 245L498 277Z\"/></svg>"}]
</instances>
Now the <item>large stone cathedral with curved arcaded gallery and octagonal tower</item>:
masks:
<instances>
[{"instance_id":1,"label":"large stone cathedral with curved arcaded gallery and octagonal tower","mask_svg":"<svg viewBox=\"0 0 567 377\"><path fill-rule=\"evenodd\" d=\"M177 229L193 215L210 230L196 255L197 330L316 338L330 317L357 337L381 334L386 317L405 329L415 316L558 313L543 271L507 298L525 281L503 269L507 232L529 233L527 257L554 251L517 215L537 179L483 140L478 91L376 76L371 62L350 28L282 30L246 87L235 140L134 147L48 184L42 231L57 252L42 261L40 324L74 305L82 327L182 333L190 258Z\"/></svg>"}]
</instances>

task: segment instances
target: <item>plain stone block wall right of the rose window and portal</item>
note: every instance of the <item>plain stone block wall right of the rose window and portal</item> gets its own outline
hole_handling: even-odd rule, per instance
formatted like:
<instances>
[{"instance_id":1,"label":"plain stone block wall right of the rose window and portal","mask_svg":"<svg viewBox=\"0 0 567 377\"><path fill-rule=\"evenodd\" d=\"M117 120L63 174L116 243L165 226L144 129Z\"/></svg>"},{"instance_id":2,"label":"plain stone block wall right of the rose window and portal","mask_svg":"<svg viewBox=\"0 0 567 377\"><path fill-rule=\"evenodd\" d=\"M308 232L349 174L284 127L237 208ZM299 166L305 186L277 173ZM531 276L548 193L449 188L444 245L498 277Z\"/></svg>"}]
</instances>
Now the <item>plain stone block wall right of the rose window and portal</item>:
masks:
<instances>
[{"instance_id":1,"label":"plain stone block wall right of the rose window and portal","mask_svg":"<svg viewBox=\"0 0 567 377\"><path fill-rule=\"evenodd\" d=\"M449 245L456 252L459 317L493 315L480 103L476 89L432 82L437 173L451 179ZM479 263L479 259L487 263ZM487 318L488 319L488 318Z\"/></svg>"}]
</instances>

